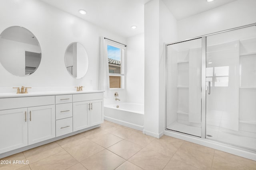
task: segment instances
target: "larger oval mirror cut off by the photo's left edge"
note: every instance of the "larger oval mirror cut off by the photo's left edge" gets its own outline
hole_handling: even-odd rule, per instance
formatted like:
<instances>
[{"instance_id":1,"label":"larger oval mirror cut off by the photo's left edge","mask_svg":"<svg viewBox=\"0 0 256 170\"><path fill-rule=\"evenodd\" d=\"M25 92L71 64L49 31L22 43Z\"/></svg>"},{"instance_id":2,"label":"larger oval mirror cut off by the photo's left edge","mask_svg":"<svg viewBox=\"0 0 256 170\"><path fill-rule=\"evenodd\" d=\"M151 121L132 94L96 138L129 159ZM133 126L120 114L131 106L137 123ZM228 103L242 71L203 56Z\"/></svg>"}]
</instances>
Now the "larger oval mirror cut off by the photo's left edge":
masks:
<instances>
[{"instance_id":1,"label":"larger oval mirror cut off by the photo's left edge","mask_svg":"<svg viewBox=\"0 0 256 170\"><path fill-rule=\"evenodd\" d=\"M35 35L20 26L6 28L0 35L0 63L16 76L28 76L41 62L41 48Z\"/></svg>"}]
</instances>

